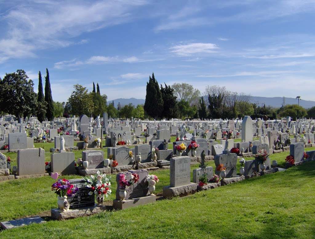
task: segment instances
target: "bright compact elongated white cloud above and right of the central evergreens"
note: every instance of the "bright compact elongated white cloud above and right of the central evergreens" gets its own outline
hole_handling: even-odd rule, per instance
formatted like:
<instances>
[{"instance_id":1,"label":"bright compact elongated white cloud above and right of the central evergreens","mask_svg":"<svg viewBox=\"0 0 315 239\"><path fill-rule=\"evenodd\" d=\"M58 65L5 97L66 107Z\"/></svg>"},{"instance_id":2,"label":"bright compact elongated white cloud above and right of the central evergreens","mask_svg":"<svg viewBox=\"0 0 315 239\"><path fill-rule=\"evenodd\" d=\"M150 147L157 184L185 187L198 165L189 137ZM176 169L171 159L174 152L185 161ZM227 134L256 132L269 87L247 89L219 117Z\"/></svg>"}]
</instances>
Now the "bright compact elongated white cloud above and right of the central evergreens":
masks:
<instances>
[{"instance_id":1,"label":"bright compact elongated white cloud above and right of the central evergreens","mask_svg":"<svg viewBox=\"0 0 315 239\"><path fill-rule=\"evenodd\" d=\"M188 56L195 53L214 53L214 49L218 49L218 47L212 43L191 43L170 48L171 52L179 56Z\"/></svg>"}]
</instances>

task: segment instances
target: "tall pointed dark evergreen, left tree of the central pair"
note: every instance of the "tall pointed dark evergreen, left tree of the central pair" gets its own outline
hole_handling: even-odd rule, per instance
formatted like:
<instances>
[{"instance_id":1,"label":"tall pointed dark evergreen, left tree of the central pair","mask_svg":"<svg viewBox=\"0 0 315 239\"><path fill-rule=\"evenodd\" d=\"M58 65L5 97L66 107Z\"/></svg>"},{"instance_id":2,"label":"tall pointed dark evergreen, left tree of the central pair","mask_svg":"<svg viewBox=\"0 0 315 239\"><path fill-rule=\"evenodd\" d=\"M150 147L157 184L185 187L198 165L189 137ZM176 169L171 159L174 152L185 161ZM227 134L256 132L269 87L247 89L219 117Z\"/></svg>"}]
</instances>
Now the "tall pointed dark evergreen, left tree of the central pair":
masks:
<instances>
[{"instance_id":1,"label":"tall pointed dark evergreen, left tree of the central pair","mask_svg":"<svg viewBox=\"0 0 315 239\"><path fill-rule=\"evenodd\" d=\"M162 118L163 113L163 98L160 87L154 78L154 73L149 77L149 82L146 83L146 102L144 110L154 119Z\"/></svg>"}]
</instances>

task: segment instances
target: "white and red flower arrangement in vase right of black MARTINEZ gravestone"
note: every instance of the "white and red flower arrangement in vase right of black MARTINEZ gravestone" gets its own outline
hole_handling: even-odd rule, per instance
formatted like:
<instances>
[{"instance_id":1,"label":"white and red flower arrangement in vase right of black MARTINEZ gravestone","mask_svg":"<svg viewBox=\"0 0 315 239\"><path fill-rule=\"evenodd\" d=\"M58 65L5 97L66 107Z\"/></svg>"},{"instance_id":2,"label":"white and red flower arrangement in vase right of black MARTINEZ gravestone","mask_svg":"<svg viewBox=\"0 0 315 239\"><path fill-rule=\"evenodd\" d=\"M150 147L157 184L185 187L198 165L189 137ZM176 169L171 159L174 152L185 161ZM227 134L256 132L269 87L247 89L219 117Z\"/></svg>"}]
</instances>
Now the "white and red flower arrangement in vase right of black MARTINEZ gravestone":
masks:
<instances>
[{"instance_id":1,"label":"white and red flower arrangement in vase right of black MARTINEZ gravestone","mask_svg":"<svg viewBox=\"0 0 315 239\"><path fill-rule=\"evenodd\" d=\"M100 173L100 171L96 172L96 175L89 175L83 177L85 181L85 185L91 189L89 195L93 193L97 195L97 202L103 202L104 196L108 197L111 195L112 190L111 188L111 178L106 177L105 173Z\"/></svg>"}]
</instances>

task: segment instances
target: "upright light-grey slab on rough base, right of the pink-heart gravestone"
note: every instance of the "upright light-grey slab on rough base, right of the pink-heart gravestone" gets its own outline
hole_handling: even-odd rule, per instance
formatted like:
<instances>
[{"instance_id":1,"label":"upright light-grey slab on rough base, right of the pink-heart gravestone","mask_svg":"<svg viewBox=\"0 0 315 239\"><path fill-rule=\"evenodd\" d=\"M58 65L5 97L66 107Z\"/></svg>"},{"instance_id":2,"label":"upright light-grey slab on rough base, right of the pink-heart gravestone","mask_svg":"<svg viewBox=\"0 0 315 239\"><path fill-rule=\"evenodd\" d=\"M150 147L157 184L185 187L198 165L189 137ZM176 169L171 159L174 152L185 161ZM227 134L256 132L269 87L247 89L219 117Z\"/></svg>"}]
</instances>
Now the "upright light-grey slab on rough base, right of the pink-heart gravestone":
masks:
<instances>
[{"instance_id":1,"label":"upright light-grey slab on rough base, right of the pink-heart gravestone","mask_svg":"<svg viewBox=\"0 0 315 239\"><path fill-rule=\"evenodd\" d=\"M190 184L190 157L180 156L170 159L170 187Z\"/></svg>"}]
</instances>

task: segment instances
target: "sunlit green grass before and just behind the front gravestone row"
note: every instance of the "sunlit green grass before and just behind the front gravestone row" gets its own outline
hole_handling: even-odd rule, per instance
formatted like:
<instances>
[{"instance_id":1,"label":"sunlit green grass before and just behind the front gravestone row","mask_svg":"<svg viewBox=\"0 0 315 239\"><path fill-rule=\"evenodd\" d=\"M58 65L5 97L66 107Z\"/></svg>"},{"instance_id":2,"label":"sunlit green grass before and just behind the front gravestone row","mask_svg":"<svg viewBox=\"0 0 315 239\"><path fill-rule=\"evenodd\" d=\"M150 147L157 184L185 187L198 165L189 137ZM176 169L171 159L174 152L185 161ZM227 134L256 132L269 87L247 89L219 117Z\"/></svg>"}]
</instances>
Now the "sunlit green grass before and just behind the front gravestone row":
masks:
<instances>
[{"instance_id":1,"label":"sunlit green grass before and just behind the front gravestone row","mask_svg":"<svg viewBox=\"0 0 315 239\"><path fill-rule=\"evenodd\" d=\"M164 172L156 171L161 177L158 185L165 185L164 176L169 177ZM315 162L306 162L185 198L1 231L0 238L314 238L314 177ZM34 192L36 180L42 183ZM25 181L31 189L22 188ZM39 198L50 190L50 181L46 177L1 183L1 220L21 210L56 206L51 192L50 198ZM17 204L21 198L23 203Z\"/></svg>"}]
</instances>

